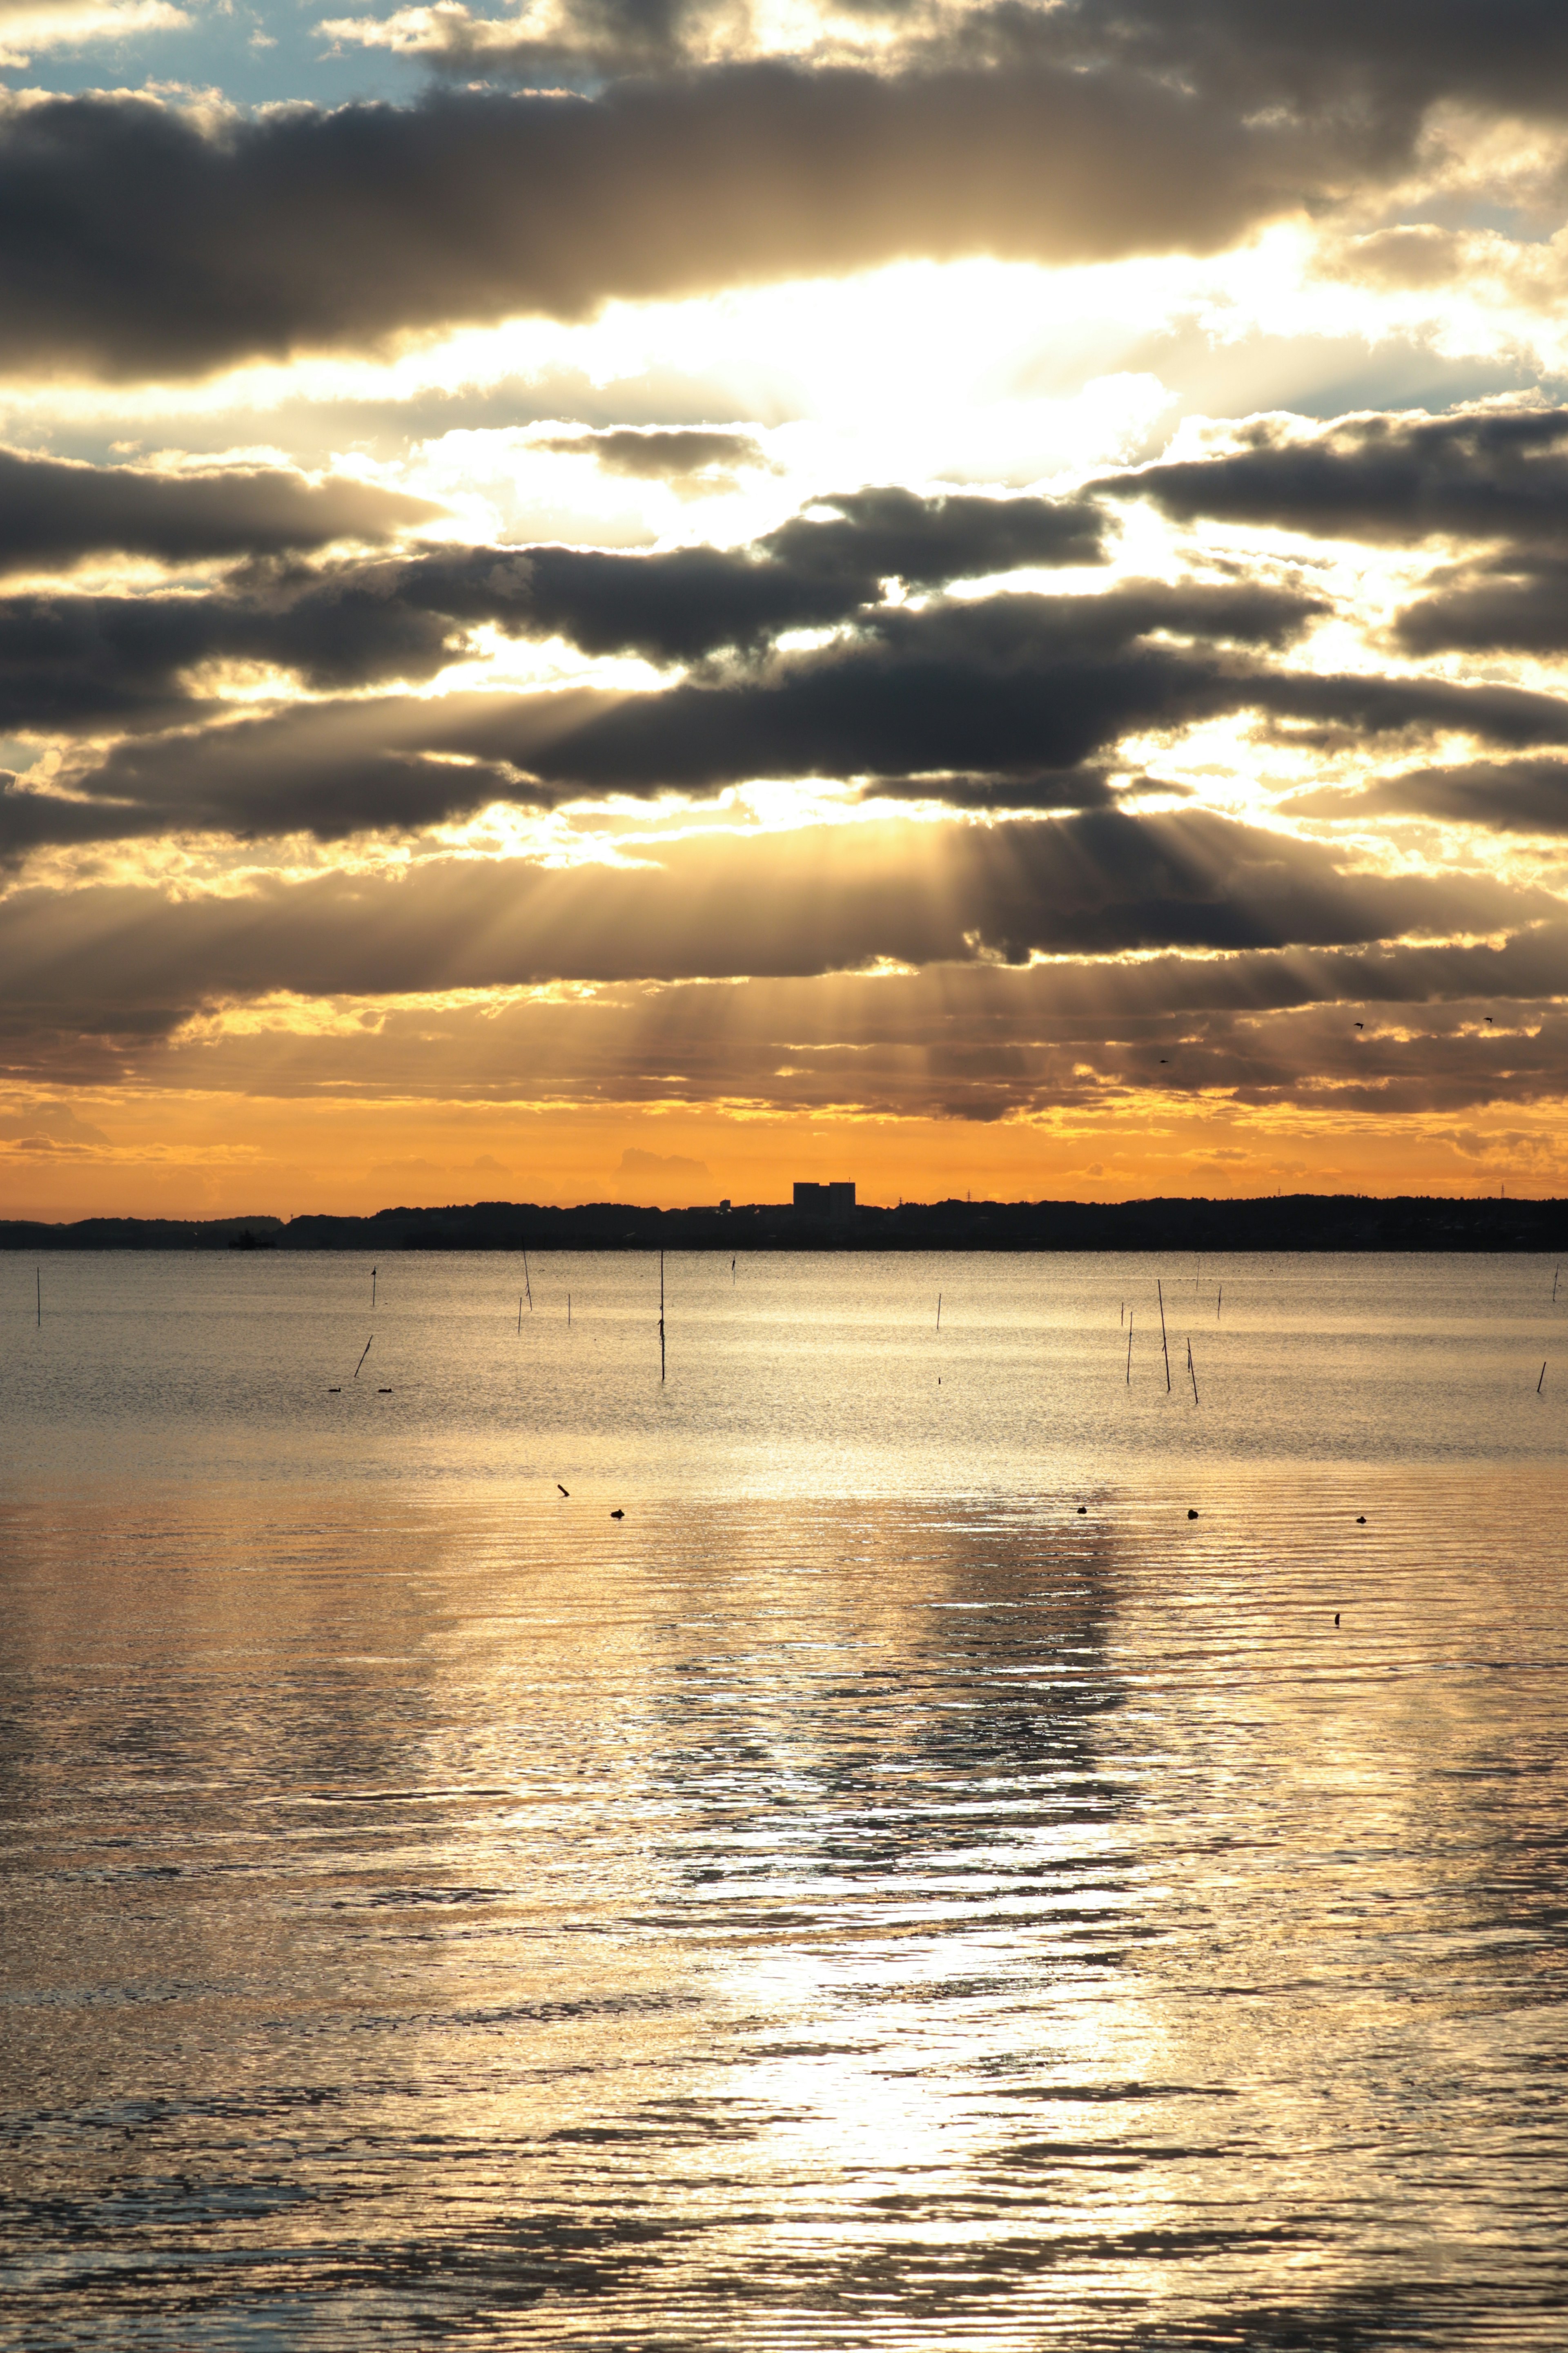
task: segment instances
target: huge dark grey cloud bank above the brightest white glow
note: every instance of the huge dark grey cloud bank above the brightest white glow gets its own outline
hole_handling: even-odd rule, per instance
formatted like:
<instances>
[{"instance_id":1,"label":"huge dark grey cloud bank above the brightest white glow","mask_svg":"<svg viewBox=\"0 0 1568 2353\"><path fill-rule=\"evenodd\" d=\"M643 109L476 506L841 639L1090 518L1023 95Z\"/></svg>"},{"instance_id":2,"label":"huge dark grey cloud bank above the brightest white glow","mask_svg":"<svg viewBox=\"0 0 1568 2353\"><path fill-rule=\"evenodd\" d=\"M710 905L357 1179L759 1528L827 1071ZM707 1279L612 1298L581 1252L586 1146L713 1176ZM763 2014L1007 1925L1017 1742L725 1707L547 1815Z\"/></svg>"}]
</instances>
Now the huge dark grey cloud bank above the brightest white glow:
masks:
<instances>
[{"instance_id":1,"label":"huge dark grey cloud bank above the brightest white glow","mask_svg":"<svg viewBox=\"0 0 1568 2353\"><path fill-rule=\"evenodd\" d=\"M0 360L169 379L907 254L1213 252L1335 184L1331 148L1056 66L755 64L216 127L146 96L12 101Z\"/></svg>"}]
</instances>

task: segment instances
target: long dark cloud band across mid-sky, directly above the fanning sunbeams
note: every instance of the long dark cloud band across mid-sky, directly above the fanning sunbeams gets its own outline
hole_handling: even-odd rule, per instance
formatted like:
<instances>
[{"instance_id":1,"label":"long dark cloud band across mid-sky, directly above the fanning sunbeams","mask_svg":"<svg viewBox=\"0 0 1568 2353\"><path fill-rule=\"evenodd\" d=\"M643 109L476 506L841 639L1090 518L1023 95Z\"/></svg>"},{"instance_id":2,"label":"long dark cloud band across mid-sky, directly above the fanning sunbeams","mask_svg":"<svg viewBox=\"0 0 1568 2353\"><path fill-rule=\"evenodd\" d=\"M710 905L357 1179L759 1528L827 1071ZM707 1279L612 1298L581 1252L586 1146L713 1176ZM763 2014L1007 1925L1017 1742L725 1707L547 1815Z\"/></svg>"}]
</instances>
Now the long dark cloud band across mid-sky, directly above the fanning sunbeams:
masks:
<instances>
[{"instance_id":1,"label":"long dark cloud band across mid-sky, directly above the fanning sunbeams","mask_svg":"<svg viewBox=\"0 0 1568 2353\"><path fill-rule=\"evenodd\" d=\"M907 786L919 800L952 786L961 807L1093 807L1128 732L1227 713L1319 751L1446 734L1568 744L1568 704L1552 694L1276 666L1316 612L1314 598L1248 584L992 595L877 609L844 642L658 692L353 696L162 734L148 722L61 767L49 791L12 784L0 845L212 828L334 840L491 800L708 795L757 776ZM40 642L59 626L33 619ZM357 626L343 631L350 649ZM299 614L289 628L299 638ZM315 659L346 656L324 635Z\"/></svg>"}]
</instances>

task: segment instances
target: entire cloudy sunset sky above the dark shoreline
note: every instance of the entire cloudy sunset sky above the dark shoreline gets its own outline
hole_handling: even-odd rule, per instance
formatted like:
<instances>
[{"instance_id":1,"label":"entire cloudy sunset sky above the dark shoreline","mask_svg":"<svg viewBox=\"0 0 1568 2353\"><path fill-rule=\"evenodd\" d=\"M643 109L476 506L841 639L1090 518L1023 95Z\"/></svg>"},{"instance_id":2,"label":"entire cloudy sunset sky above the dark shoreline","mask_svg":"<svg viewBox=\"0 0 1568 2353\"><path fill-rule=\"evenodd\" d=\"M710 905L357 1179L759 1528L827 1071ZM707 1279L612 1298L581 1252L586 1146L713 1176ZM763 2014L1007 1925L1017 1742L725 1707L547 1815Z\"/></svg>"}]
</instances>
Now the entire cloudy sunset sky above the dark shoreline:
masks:
<instances>
[{"instance_id":1,"label":"entire cloudy sunset sky above the dark shoreline","mask_svg":"<svg viewBox=\"0 0 1568 2353\"><path fill-rule=\"evenodd\" d=\"M1568 1191L1568 12L0 0L0 1214Z\"/></svg>"}]
</instances>

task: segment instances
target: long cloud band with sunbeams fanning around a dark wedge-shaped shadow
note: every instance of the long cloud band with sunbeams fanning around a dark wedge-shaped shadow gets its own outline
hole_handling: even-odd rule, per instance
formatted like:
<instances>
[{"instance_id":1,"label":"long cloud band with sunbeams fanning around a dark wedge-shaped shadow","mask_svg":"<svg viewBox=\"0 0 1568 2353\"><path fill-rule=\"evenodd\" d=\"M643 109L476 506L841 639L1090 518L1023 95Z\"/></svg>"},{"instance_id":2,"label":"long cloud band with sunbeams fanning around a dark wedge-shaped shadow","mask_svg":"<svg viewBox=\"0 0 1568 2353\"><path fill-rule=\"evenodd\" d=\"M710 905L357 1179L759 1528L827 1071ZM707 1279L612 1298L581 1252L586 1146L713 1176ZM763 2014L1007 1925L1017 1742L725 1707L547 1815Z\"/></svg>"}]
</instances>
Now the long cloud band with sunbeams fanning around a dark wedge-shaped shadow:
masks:
<instances>
[{"instance_id":1,"label":"long cloud band with sunbeams fanning around a dark wedge-shaped shadow","mask_svg":"<svg viewBox=\"0 0 1568 2353\"><path fill-rule=\"evenodd\" d=\"M1342 871L1321 845L1206 812L893 821L698 835L644 849L637 866L428 859L179 899L132 885L14 889L0 901L0 1019L7 1035L167 1035L200 1007L277 991L397 998L1025 965L1037 953L1312 953L1530 925L1561 932L1561 901L1486 875Z\"/></svg>"}]
</instances>

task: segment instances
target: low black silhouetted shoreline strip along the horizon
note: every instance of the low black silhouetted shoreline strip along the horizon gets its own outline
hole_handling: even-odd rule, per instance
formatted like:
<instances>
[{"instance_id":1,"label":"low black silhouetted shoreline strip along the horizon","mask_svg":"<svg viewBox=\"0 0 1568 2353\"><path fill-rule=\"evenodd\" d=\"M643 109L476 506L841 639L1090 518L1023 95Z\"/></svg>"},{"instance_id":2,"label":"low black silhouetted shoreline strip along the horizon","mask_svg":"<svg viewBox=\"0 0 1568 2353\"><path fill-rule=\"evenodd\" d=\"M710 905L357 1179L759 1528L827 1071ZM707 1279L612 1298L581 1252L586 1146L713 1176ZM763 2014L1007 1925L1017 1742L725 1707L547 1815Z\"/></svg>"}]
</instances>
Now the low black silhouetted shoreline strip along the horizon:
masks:
<instances>
[{"instance_id":1,"label":"low black silhouetted shoreline strip along the horizon","mask_svg":"<svg viewBox=\"0 0 1568 2353\"><path fill-rule=\"evenodd\" d=\"M1253 1200L905 1202L820 1217L792 1207L632 1209L473 1202L376 1217L0 1219L0 1249L1126 1249L1126 1252L1568 1252L1563 1200L1267 1193Z\"/></svg>"}]
</instances>

